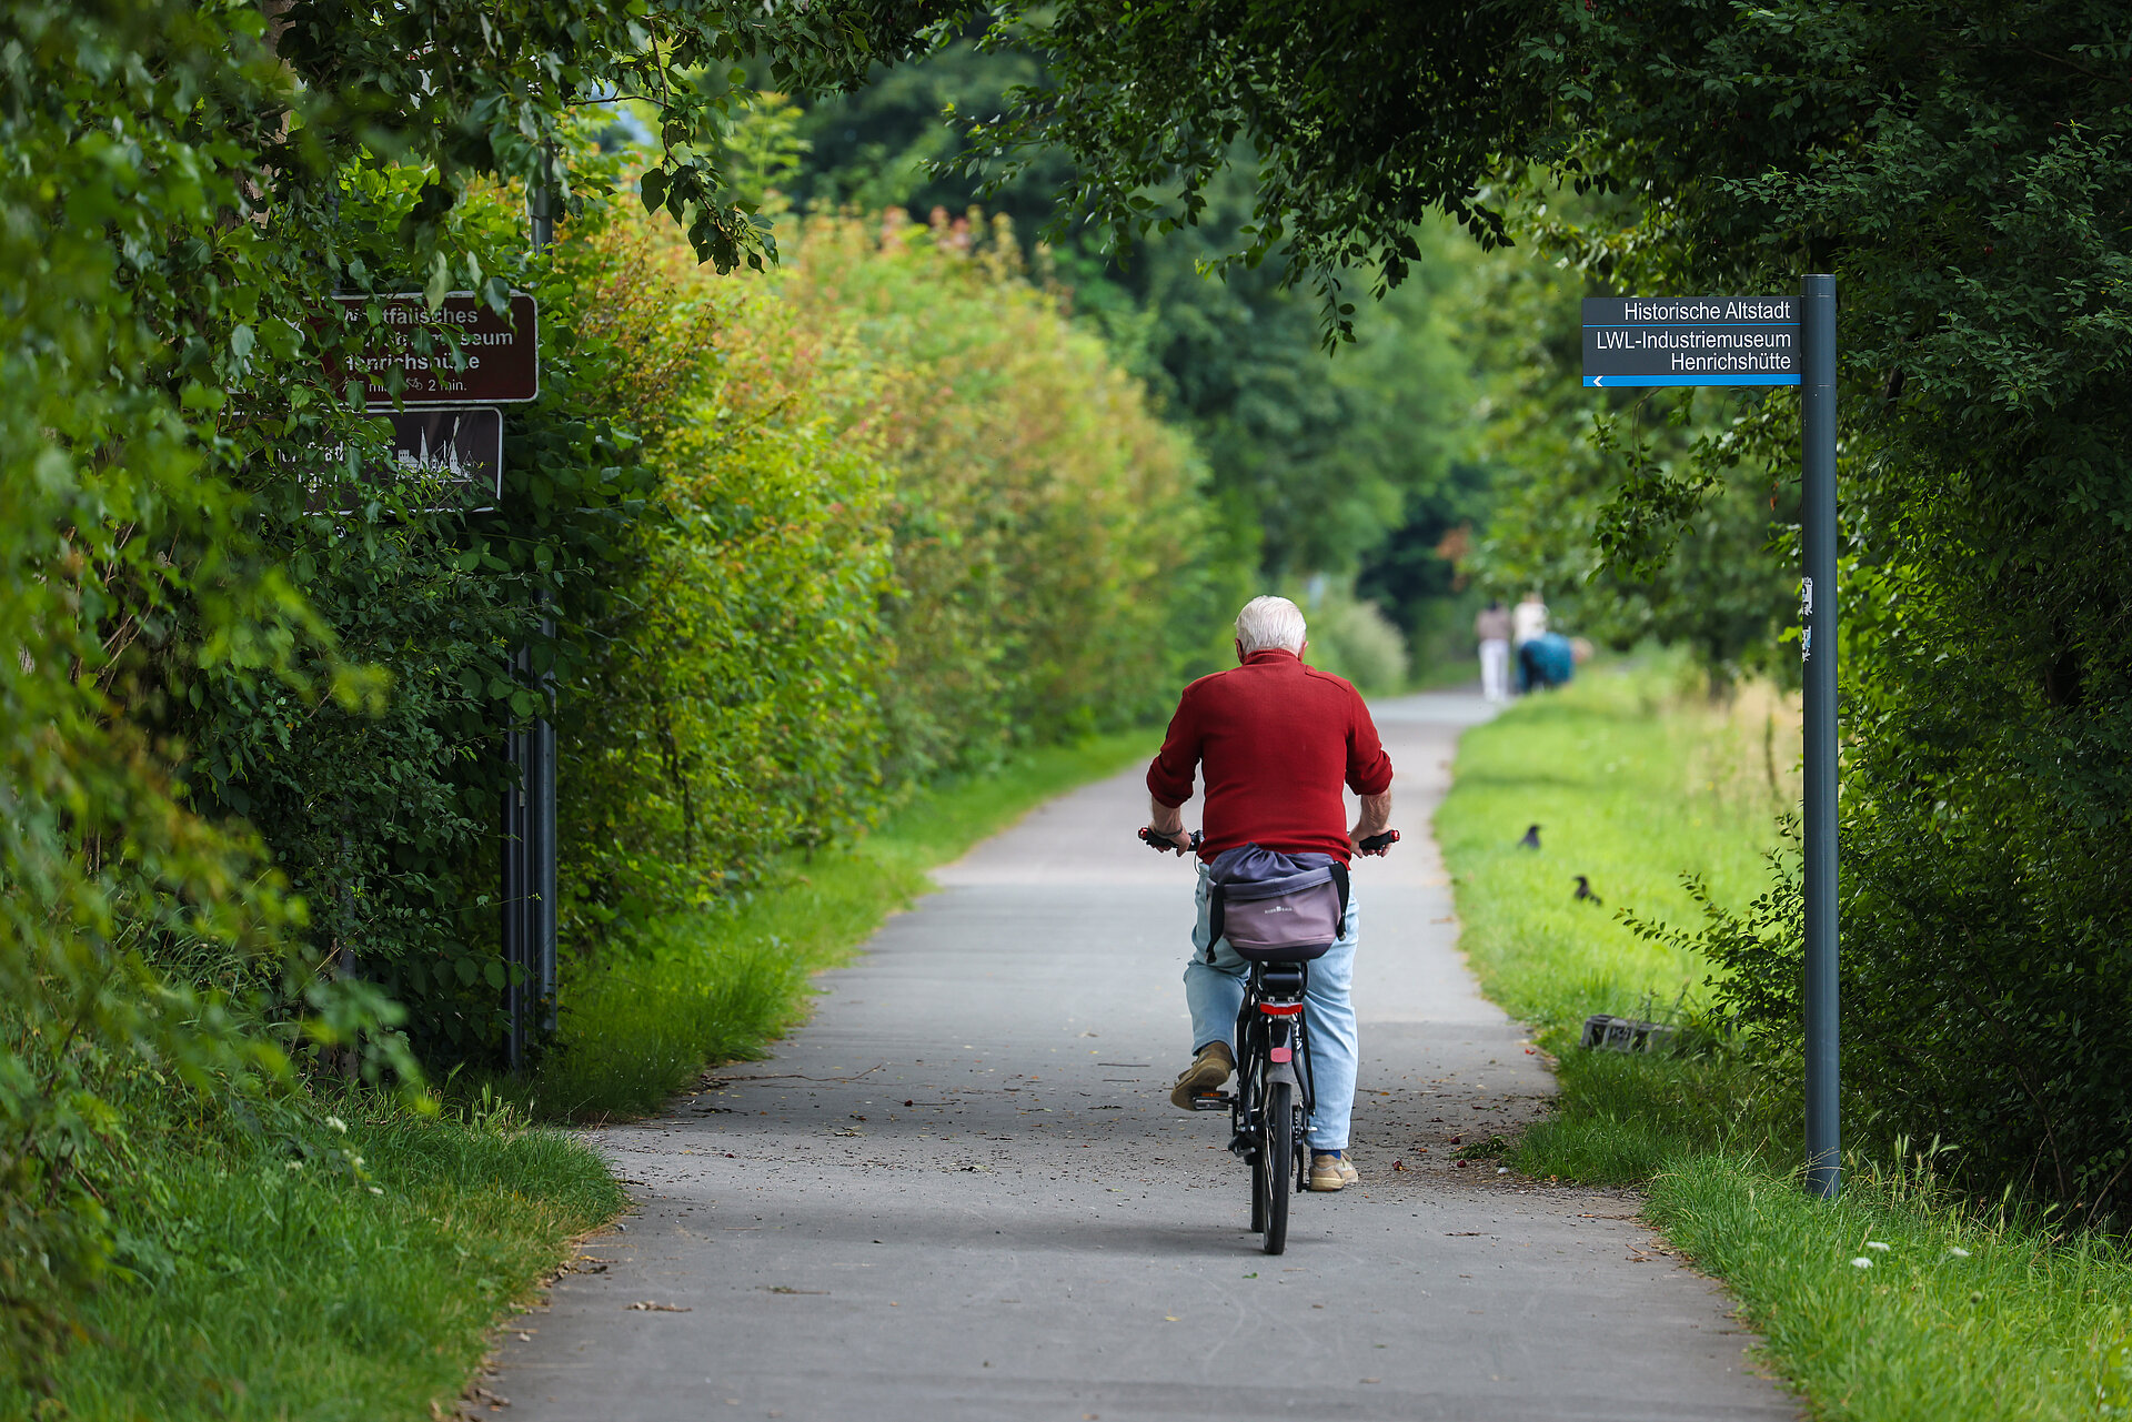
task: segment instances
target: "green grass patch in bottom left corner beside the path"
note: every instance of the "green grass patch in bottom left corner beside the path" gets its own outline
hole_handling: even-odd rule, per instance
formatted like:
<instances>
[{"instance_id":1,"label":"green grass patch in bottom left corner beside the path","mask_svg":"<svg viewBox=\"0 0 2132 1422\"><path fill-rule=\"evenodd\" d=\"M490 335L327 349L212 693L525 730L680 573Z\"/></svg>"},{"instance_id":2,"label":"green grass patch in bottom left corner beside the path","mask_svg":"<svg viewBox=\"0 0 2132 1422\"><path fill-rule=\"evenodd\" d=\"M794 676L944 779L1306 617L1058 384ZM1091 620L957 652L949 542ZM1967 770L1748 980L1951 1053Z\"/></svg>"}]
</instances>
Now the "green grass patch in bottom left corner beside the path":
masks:
<instances>
[{"instance_id":1,"label":"green grass patch in bottom left corner beside the path","mask_svg":"<svg viewBox=\"0 0 2132 1422\"><path fill-rule=\"evenodd\" d=\"M593 1151L510 1109L339 1111L345 1134L311 1141L136 1136L141 1190L111 1205L139 1279L87 1300L47 1396L0 1384L0 1416L426 1420L497 1313L627 1205Z\"/></svg>"}]
</instances>

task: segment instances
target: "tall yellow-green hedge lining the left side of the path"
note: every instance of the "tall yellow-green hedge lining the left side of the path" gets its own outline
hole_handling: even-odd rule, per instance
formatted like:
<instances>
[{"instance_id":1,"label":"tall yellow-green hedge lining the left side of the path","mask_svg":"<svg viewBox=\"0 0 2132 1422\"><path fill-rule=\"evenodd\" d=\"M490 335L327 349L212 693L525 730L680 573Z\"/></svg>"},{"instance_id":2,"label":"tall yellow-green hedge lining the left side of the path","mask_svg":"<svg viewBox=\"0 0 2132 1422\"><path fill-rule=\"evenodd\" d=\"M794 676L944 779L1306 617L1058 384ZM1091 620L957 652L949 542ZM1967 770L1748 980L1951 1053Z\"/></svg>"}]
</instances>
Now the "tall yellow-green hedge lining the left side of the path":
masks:
<instances>
[{"instance_id":1,"label":"tall yellow-green hedge lining the left side of the path","mask_svg":"<svg viewBox=\"0 0 2132 1422\"><path fill-rule=\"evenodd\" d=\"M588 247L659 484L567 725L576 947L1183 674L1190 446L1004 230L819 217L768 281L642 222Z\"/></svg>"}]
</instances>

